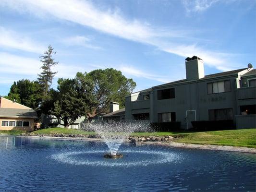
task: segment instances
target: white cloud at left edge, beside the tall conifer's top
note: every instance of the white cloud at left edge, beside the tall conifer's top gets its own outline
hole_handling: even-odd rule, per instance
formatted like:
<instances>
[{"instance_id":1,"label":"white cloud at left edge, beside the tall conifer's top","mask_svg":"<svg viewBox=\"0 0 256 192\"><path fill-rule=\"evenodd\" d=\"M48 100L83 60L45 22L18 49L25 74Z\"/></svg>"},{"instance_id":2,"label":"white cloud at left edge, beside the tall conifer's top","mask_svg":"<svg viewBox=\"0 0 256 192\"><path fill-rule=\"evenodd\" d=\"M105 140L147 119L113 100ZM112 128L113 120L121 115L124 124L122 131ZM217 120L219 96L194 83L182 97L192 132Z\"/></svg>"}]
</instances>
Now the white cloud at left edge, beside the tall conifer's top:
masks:
<instances>
[{"instance_id":1,"label":"white cloud at left edge, beside the tall conifer's top","mask_svg":"<svg viewBox=\"0 0 256 192\"><path fill-rule=\"evenodd\" d=\"M0 46L3 48L14 48L40 54L44 50L44 47L39 43L1 26L0 34Z\"/></svg>"}]
</instances>

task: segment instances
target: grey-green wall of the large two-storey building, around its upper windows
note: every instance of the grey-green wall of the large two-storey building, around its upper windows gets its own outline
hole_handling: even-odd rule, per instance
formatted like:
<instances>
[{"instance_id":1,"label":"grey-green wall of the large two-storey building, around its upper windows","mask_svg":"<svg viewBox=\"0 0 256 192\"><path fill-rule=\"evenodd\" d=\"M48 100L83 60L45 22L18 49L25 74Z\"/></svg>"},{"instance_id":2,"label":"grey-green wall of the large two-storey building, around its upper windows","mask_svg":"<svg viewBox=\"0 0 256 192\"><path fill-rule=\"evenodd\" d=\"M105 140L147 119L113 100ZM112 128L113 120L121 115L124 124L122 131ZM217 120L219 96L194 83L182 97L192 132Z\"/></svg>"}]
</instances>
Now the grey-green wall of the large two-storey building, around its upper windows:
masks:
<instances>
[{"instance_id":1,"label":"grey-green wall of the large two-storey building, around its upper windows","mask_svg":"<svg viewBox=\"0 0 256 192\"><path fill-rule=\"evenodd\" d=\"M231 92L207 94L207 83L231 81ZM175 98L157 100L157 91L175 88ZM183 129L187 128L187 111L195 110L195 120L209 120L209 109L232 108L233 120L236 114L235 77L211 78L208 80L193 81L187 84L176 84L154 89L154 118L158 121L158 113L175 112L176 121L181 122ZM189 127L188 127L189 128Z\"/></svg>"}]
</instances>

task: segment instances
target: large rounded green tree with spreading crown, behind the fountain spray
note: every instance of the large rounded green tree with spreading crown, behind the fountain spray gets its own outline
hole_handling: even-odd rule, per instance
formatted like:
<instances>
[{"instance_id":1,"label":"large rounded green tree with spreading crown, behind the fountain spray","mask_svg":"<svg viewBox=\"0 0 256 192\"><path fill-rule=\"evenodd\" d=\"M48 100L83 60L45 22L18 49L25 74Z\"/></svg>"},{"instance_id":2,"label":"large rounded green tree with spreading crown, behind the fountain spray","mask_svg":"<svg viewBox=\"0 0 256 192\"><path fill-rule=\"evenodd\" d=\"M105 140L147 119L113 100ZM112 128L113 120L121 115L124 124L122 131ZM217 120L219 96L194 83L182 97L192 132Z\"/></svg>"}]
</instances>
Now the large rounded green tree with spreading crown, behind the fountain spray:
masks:
<instances>
[{"instance_id":1,"label":"large rounded green tree with spreading crown, behind the fountain spray","mask_svg":"<svg viewBox=\"0 0 256 192\"><path fill-rule=\"evenodd\" d=\"M111 101L119 102L124 107L125 96L132 93L136 86L133 79L127 79L122 72L114 69L99 69L84 74L78 72L76 78L93 84L91 103L86 113L89 119L106 112Z\"/></svg>"}]
</instances>

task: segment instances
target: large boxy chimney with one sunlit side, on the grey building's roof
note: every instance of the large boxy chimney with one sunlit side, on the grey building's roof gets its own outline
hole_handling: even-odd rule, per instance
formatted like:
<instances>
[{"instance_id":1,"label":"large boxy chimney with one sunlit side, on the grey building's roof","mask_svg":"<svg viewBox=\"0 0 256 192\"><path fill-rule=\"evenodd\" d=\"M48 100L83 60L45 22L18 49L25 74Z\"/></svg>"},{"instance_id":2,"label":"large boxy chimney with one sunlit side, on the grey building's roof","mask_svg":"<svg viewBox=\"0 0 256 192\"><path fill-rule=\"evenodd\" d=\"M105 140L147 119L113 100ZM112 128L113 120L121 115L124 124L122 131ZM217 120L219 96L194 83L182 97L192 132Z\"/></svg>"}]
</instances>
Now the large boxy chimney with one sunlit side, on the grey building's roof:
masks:
<instances>
[{"instance_id":1,"label":"large boxy chimney with one sunlit side, on the grey building's roof","mask_svg":"<svg viewBox=\"0 0 256 192\"><path fill-rule=\"evenodd\" d=\"M196 80L205 77L204 61L199 57L188 57L185 59L185 63L187 80Z\"/></svg>"}]
</instances>

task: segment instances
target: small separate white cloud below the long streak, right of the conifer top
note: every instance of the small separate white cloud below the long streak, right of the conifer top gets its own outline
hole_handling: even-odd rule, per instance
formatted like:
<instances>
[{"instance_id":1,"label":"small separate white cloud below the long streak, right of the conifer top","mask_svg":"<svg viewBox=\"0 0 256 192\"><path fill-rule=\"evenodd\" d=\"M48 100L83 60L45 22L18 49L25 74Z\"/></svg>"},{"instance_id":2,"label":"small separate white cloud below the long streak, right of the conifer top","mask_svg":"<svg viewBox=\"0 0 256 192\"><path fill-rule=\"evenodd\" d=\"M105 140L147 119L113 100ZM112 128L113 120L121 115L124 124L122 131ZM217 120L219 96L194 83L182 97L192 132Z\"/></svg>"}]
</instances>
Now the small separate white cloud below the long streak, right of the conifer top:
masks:
<instances>
[{"instance_id":1,"label":"small separate white cloud below the long streak, right of the conifer top","mask_svg":"<svg viewBox=\"0 0 256 192\"><path fill-rule=\"evenodd\" d=\"M62 43L68 46L82 46L85 48L101 49L90 43L91 39L85 36L70 36L61 40Z\"/></svg>"}]
</instances>

